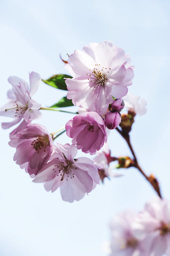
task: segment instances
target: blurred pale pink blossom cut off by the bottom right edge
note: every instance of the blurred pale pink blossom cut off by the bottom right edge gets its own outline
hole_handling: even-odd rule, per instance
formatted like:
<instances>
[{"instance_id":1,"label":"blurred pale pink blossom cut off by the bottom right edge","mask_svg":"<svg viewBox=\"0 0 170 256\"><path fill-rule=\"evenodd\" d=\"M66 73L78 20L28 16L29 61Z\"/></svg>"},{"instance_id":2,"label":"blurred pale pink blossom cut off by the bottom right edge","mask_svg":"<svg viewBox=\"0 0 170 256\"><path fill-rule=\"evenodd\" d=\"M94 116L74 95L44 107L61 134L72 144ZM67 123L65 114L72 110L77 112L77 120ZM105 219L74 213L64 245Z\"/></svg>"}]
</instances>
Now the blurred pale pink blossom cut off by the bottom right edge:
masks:
<instances>
[{"instance_id":1,"label":"blurred pale pink blossom cut off by the bottom right edge","mask_svg":"<svg viewBox=\"0 0 170 256\"><path fill-rule=\"evenodd\" d=\"M148 256L170 255L170 202L154 198L139 214L138 222L144 227Z\"/></svg>"}]
</instances>

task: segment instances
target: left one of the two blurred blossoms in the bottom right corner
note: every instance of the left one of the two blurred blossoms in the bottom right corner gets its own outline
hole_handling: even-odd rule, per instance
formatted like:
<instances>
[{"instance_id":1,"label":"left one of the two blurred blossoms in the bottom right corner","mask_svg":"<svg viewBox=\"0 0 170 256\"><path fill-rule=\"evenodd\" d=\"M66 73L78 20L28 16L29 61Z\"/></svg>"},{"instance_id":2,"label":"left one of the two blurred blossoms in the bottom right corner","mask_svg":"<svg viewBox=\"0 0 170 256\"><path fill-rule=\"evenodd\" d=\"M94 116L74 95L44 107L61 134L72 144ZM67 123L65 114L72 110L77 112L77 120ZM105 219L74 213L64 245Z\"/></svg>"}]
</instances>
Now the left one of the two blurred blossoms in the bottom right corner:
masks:
<instances>
[{"instance_id":1,"label":"left one of the two blurred blossoms in the bottom right corner","mask_svg":"<svg viewBox=\"0 0 170 256\"><path fill-rule=\"evenodd\" d=\"M111 223L110 256L149 256L145 254L142 225L135 221L136 214L124 212L116 215Z\"/></svg>"}]
</instances>

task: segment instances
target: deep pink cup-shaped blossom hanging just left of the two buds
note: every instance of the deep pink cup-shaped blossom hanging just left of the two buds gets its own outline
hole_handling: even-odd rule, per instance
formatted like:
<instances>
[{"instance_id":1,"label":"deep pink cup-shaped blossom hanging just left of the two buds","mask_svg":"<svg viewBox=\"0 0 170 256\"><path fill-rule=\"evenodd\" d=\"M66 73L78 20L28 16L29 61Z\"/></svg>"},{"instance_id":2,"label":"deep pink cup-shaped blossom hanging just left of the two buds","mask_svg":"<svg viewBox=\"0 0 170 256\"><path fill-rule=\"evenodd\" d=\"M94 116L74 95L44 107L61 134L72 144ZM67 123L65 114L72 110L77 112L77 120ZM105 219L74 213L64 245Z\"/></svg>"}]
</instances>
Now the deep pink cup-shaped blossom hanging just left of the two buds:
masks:
<instances>
[{"instance_id":1,"label":"deep pink cup-shaped blossom hanging just left of the two buds","mask_svg":"<svg viewBox=\"0 0 170 256\"><path fill-rule=\"evenodd\" d=\"M67 136L85 153L94 155L107 141L104 119L96 112L84 112L66 124Z\"/></svg>"}]
</instances>

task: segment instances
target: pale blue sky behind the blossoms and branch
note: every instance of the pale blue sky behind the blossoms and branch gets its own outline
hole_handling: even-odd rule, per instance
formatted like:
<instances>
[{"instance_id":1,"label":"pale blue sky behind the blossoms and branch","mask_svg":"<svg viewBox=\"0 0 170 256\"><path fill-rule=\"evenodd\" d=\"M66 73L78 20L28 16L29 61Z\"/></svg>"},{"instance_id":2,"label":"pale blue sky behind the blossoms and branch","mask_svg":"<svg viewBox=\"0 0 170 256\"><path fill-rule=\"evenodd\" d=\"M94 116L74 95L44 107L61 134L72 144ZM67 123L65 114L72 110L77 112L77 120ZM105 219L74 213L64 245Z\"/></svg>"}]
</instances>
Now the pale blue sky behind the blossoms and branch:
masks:
<instances>
[{"instance_id":1,"label":"pale blue sky behind the blossoms and branch","mask_svg":"<svg viewBox=\"0 0 170 256\"><path fill-rule=\"evenodd\" d=\"M135 66L130 92L148 102L147 114L135 118L132 144L143 170L155 174L163 196L170 199L169 14L168 0L0 0L1 106L11 88L8 76L28 81L29 71L38 72L43 79L67 74L60 53L67 59L67 53L90 42L113 41L131 56ZM42 82L33 99L50 106L65 95L66 91ZM45 125L49 132L73 117L42 113L43 118L34 123ZM7 120L0 117L1 122ZM112 216L126 209L139 211L155 196L140 173L129 168L119 169L123 177L105 179L104 185L81 201L64 202L59 189L47 192L13 161L15 149L8 145L12 130L0 131L1 256L104 256L102 247L109 240ZM70 143L71 139L63 134L58 142ZM112 155L131 156L116 130L110 132L108 142Z\"/></svg>"}]
</instances>

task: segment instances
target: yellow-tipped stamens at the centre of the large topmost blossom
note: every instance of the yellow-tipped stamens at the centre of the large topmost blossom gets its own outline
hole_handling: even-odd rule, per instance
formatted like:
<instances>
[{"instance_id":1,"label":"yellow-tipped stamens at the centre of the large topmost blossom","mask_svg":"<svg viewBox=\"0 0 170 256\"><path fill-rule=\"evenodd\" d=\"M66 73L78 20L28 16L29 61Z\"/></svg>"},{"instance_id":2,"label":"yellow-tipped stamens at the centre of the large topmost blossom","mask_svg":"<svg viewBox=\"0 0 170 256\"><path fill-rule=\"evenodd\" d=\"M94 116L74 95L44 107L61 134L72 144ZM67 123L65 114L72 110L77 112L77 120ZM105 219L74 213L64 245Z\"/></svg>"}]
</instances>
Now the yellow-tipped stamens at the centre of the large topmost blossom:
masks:
<instances>
[{"instance_id":1,"label":"yellow-tipped stamens at the centre of the large topmost blossom","mask_svg":"<svg viewBox=\"0 0 170 256\"><path fill-rule=\"evenodd\" d=\"M109 70L111 70L111 68L109 68ZM95 87L98 85L104 86L105 82L108 81L107 79L107 75L109 73L108 68L101 67L100 64L96 64L96 68L94 68L92 72L90 69L90 73L91 74L87 74L88 76L90 76L88 80L90 80L90 82L95 83Z\"/></svg>"}]
</instances>

